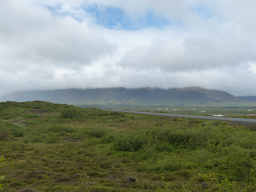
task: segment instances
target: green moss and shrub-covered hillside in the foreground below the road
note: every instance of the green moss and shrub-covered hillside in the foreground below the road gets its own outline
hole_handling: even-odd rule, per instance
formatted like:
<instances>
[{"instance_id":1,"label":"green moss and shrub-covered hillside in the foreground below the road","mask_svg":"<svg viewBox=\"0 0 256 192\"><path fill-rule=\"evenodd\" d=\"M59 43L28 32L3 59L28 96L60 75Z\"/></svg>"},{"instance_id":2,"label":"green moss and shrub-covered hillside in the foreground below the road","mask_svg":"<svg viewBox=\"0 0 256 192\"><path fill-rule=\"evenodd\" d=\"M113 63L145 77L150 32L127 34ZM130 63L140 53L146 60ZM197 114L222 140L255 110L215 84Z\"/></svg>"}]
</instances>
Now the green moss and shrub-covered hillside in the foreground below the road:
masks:
<instances>
[{"instance_id":1,"label":"green moss and shrub-covered hillside in the foreground below the road","mask_svg":"<svg viewBox=\"0 0 256 192\"><path fill-rule=\"evenodd\" d=\"M216 120L2 102L0 191L254 192L255 130Z\"/></svg>"}]
</instances>

